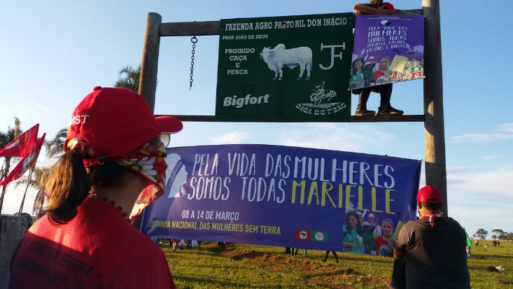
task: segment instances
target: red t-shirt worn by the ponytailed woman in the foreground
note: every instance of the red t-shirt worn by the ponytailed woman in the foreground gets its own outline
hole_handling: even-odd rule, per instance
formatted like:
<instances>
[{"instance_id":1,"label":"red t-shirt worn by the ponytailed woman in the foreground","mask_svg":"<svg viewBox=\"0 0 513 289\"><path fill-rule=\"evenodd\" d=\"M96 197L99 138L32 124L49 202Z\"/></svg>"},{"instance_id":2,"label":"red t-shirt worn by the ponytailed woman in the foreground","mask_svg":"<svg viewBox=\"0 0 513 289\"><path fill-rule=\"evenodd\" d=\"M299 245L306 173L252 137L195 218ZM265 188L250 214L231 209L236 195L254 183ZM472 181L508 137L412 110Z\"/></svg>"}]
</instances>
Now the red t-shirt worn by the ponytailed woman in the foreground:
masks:
<instances>
[{"instance_id":1,"label":"red t-shirt worn by the ponytailed woman in the foreground","mask_svg":"<svg viewBox=\"0 0 513 289\"><path fill-rule=\"evenodd\" d=\"M66 225L32 225L10 260L9 288L175 288L162 250L111 204L87 197Z\"/></svg>"}]
</instances>

